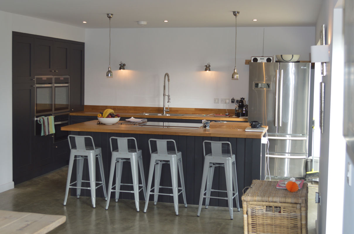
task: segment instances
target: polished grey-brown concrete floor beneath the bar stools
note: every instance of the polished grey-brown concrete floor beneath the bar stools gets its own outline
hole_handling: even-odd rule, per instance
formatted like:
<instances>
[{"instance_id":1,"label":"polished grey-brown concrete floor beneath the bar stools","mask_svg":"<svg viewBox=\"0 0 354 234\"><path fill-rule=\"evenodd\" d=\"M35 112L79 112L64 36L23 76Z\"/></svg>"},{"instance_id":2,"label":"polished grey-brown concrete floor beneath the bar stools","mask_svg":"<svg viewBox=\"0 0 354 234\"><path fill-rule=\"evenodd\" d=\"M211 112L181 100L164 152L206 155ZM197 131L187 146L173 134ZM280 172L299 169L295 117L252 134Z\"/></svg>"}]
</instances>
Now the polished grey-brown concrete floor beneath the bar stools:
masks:
<instances>
[{"instance_id":1,"label":"polished grey-brown concrete floor beneath the bar stools","mask_svg":"<svg viewBox=\"0 0 354 234\"><path fill-rule=\"evenodd\" d=\"M96 208L92 208L90 197L70 196L63 206L67 171L68 167L63 167L0 193L0 210L67 216L67 221L50 233L243 233L242 209L234 209L234 219L230 220L226 207L209 206L197 217L196 205L179 205L179 216L173 204L159 202L156 206L150 202L147 213L143 212L144 201L137 212L133 200L111 199L105 210L103 198L97 198ZM317 190L316 184L309 184L309 234L315 233Z\"/></svg>"}]
</instances>

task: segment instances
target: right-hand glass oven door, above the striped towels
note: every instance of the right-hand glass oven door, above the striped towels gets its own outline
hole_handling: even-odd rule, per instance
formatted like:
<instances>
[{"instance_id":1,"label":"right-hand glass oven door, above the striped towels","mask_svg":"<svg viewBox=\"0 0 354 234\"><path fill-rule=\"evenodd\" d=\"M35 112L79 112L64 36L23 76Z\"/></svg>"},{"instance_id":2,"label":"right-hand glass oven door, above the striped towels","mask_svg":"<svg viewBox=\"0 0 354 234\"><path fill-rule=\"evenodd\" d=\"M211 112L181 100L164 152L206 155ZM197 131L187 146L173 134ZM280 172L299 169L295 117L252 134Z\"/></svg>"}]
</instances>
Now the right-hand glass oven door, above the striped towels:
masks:
<instances>
[{"instance_id":1,"label":"right-hand glass oven door, above the striped towels","mask_svg":"<svg viewBox=\"0 0 354 234\"><path fill-rule=\"evenodd\" d=\"M54 113L69 111L69 84L54 84Z\"/></svg>"}]
</instances>

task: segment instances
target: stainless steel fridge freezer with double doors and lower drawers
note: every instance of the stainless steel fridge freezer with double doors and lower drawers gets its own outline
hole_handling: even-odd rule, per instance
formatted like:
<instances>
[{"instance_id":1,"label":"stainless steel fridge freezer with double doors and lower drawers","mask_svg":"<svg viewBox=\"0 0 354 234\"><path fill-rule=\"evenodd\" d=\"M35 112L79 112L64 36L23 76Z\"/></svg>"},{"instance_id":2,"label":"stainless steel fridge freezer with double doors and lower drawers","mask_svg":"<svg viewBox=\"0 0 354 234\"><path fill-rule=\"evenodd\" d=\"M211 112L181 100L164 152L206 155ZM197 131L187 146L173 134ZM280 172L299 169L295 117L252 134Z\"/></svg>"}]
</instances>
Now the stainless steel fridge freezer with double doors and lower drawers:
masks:
<instances>
[{"instance_id":1,"label":"stainless steel fridge freezer with double doors and lower drawers","mask_svg":"<svg viewBox=\"0 0 354 234\"><path fill-rule=\"evenodd\" d=\"M271 176L306 175L310 65L250 63L248 120L268 126L266 155L269 156Z\"/></svg>"}]
</instances>

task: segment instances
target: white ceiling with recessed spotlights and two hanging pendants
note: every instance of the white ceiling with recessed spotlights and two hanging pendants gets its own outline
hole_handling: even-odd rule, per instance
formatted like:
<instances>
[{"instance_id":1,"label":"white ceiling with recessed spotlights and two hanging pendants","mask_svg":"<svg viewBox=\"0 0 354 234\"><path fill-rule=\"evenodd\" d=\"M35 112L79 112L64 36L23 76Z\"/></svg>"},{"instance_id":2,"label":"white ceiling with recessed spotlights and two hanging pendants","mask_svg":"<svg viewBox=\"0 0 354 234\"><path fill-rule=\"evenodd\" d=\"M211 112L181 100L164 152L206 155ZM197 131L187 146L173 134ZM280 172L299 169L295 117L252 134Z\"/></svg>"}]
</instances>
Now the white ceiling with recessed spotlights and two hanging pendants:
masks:
<instances>
[{"instance_id":1,"label":"white ceiling with recessed spotlights and two hanging pendants","mask_svg":"<svg viewBox=\"0 0 354 234\"><path fill-rule=\"evenodd\" d=\"M322 0L0 0L0 11L80 28L315 26ZM164 20L168 23L164 23ZM254 22L253 19L258 19ZM86 21L84 24L82 21Z\"/></svg>"}]
</instances>

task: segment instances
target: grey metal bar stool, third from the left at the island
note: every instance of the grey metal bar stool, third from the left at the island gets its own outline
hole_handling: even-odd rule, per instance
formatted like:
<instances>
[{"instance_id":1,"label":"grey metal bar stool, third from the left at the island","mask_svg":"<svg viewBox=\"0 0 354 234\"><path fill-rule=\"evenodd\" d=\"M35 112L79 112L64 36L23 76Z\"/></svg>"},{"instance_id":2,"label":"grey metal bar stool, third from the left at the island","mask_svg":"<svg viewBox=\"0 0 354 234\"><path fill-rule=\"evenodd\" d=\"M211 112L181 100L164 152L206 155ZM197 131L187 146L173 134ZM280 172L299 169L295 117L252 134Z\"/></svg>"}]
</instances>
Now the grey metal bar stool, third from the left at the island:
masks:
<instances>
[{"instance_id":1,"label":"grey metal bar stool, third from the left at the island","mask_svg":"<svg viewBox=\"0 0 354 234\"><path fill-rule=\"evenodd\" d=\"M151 141L156 142L157 151L151 152ZM175 150L169 151L167 150L167 142L173 142L175 145ZM182 153L177 151L176 142L174 140L161 140L161 139L149 139L149 150L151 154L150 159L150 169L149 169L149 177L148 177L148 188L147 195L145 201L144 212L146 212L148 208L149 196L150 194L154 194L154 205L157 203L157 199L159 195L169 195L173 196L173 203L175 205L175 212L178 215L178 195L182 193L184 206L187 207L187 201L185 198L185 188L184 188L184 178L183 178L183 167L182 167ZM160 178L161 178L161 169L162 164L170 164L171 168L171 178L172 178L172 187L160 186ZM153 179L155 167L155 186L151 188L151 183ZM178 188L178 171L179 171L179 179L181 180L181 188ZM172 188L172 194L167 193L159 193L159 188ZM154 192L151 190L154 189ZM178 193L178 190L181 190Z\"/></svg>"}]
</instances>

